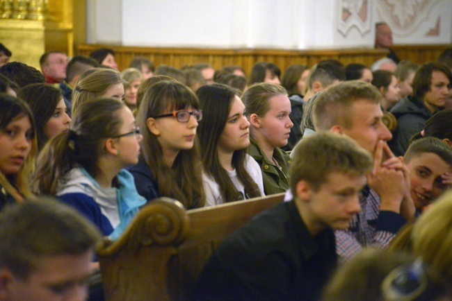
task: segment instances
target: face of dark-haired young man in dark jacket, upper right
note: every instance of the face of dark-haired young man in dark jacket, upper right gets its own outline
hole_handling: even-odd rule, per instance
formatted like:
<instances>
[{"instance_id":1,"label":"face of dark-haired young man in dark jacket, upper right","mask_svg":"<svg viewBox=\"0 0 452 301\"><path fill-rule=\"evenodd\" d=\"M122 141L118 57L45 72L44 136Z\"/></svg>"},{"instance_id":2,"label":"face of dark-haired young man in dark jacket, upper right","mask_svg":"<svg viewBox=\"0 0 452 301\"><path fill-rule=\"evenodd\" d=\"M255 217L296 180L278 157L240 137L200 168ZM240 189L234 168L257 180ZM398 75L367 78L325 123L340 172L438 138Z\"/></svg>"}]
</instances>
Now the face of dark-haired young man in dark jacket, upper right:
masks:
<instances>
[{"instance_id":1,"label":"face of dark-haired young man in dark jacket, upper right","mask_svg":"<svg viewBox=\"0 0 452 301\"><path fill-rule=\"evenodd\" d=\"M450 88L451 82L446 74L442 73L442 71L433 71L430 89L423 96L423 103L428 110L435 112L438 107L444 107Z\"/></svg>"}]
</instances>

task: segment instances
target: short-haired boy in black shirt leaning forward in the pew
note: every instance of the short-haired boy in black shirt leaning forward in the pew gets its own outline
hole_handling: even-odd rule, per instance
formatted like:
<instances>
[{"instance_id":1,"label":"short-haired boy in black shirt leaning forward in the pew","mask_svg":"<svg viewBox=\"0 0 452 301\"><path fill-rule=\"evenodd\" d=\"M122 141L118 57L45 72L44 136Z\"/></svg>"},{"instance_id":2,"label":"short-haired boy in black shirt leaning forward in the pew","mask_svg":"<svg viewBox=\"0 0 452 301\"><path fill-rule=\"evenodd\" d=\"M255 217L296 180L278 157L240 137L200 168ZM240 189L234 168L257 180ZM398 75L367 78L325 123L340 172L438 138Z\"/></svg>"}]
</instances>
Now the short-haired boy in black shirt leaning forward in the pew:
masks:
<instances>
[{"instance_id":1,"label":"short-haired boy in black shirt leaning forward in the pew","mask_svg":"<svg viewBox=\"0 0 452 301\"><path fill-rule=\"evenodd\" d=\"M318 300L337 265L333 230L360 212L372 164L346 137L302 139L290 170L293 200L229 236L204 266L193 299Z\"/></svg>"}]
</instances>

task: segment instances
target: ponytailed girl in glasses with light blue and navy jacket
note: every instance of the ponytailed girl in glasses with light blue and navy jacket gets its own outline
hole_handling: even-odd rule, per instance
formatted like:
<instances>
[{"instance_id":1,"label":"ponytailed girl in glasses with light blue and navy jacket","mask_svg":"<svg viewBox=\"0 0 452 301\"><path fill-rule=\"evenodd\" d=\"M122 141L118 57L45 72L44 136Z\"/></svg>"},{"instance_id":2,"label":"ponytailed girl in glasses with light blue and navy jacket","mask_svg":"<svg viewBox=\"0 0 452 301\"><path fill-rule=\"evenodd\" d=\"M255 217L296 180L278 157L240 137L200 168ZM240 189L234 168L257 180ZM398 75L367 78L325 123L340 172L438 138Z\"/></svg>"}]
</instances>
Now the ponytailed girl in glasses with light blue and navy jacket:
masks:
<instances>
[{"instance_id":1,"label":"ponytailed girl in glasses with light blue and navy jacket","mask_svg":"<svg viewBox=\"0 0 452 301\"><path fill-rule=\"evenodd\" d=\"M122 101L98 98L77 110L69 132L42 149L33 188L58 196L114 240L145 204L124 169L138 162L142 137Z\"/></svg>"}]
</instances>

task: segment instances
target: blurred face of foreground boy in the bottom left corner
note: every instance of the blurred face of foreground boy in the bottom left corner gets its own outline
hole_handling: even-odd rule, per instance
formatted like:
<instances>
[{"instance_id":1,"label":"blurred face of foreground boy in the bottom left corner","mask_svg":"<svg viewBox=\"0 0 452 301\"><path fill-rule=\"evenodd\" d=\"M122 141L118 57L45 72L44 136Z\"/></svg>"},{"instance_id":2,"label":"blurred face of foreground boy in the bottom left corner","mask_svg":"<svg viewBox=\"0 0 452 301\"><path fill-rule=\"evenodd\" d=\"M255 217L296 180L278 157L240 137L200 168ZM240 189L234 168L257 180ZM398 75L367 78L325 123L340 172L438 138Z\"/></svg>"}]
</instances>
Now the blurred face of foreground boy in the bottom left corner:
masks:
<instances>
[{"instance_id":1,"label":"blurred face of foreground boy in the bottom left corner","mask_svg":"<svg viewBox=\"0 0 452 301\"><path fill-rule=\"evenodd\" d=\"M10 301L86 300L91 259L92 252L46 257L26 280L1 271L0 295Z\"/></svg>"}]
</instances>

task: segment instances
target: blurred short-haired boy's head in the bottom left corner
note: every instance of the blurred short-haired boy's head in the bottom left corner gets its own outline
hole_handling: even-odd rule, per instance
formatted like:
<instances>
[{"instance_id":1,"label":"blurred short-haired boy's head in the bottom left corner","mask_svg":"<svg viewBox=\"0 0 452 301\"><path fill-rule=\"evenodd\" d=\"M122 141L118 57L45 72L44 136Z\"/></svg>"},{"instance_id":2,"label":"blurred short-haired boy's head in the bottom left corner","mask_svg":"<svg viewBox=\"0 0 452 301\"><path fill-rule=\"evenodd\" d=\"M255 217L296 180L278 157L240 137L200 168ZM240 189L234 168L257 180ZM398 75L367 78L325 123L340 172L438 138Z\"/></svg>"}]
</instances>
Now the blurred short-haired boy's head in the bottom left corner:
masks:
<instances>
[{"instance_id":1,"label":"blurred short-haired boy's head in the bottom left corner","mask_svg":"<svg viewBox=\"0 0 452 301\"><path fill-rule=\"evenodd\" d=\"M86 300L99 232L56 200L0 214L0 300Z\"/></svg>"}]
</instances>

